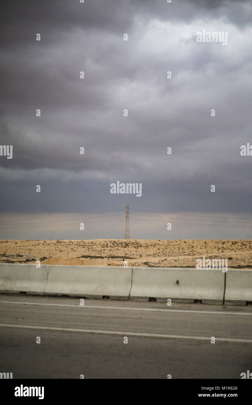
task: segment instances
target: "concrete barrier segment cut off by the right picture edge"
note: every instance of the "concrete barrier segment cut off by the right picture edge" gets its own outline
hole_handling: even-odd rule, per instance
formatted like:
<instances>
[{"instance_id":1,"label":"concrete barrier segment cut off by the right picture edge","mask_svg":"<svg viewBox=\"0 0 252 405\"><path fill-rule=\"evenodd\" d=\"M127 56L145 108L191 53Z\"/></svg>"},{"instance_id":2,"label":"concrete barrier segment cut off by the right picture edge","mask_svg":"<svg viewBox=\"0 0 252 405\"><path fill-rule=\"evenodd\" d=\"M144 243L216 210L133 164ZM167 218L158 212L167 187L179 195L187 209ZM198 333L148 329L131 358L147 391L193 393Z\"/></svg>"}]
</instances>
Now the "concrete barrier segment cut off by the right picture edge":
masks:
<instances>
[{"instance_id":1,"label":"concrete barrier segment cut off by the right picture edge","mask_svg":"<svg viewBox=\"0 0 252 405\"><path fill-rule=\"evenodd\" d=\"M225 304L246 305L252 301L252 270L228 270Z\"/></svg>"}]
</instances>

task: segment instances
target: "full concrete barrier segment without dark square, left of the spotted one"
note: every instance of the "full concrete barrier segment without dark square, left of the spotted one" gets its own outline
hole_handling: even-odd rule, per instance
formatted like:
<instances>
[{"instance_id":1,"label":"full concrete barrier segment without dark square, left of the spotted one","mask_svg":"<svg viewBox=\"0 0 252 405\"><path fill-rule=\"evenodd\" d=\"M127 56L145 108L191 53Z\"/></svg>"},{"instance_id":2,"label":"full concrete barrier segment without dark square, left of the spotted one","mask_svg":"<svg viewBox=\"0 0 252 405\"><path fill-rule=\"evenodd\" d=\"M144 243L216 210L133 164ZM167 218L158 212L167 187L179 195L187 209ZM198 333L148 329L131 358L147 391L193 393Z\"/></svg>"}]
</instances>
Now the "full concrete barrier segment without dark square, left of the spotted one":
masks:
<instances>
[{"instance_id":1,"label":"full concrete barrier segment without dark square, left of the spotted one","mask_svg":"<svg viewBox=\"0 0 252 405\"><path fill-rule=\"evenodd\" d=\"M129 299L132 267L49 266L45 295Z\"/></svg>"}]
</instances>

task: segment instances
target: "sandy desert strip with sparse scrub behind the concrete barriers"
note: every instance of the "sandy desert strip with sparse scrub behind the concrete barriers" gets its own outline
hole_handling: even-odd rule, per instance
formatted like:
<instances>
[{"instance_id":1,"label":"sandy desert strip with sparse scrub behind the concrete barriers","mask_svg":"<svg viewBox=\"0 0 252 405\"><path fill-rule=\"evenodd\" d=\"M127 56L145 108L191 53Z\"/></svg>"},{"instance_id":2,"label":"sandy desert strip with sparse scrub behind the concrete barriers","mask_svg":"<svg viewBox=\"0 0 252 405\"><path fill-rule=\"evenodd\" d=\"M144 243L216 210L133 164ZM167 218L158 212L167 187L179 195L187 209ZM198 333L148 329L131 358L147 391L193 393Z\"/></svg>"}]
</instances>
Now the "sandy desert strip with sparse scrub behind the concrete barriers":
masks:
<instances>
[{"instance_id":1,"label":"sandy desert strip with sparse scrub behind the concrete barriers","mask_svg":"<svg viewBox=\"0 0 252 405\"><path fill-rule=\"evenodd\" d=\"M251 240L95 239L0 241L0 263L78 266L196 267L196 259L228 259L229 268L252 268Z\"/></svg>"}]
</instances>

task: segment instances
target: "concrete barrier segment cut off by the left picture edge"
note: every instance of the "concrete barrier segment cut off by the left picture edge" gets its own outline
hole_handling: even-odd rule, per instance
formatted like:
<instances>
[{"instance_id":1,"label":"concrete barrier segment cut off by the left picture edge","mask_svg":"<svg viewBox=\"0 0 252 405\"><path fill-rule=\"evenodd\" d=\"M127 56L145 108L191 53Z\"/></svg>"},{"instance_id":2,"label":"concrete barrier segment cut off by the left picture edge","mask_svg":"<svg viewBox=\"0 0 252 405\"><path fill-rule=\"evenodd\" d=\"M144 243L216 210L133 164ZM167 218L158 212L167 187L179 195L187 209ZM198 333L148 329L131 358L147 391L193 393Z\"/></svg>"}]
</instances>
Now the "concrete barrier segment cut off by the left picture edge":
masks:
<instances>
[{"instance_id":1,"label":"concrete barrier segment cut off by the left picture edge","mask_svg":"<svg viewBox=\"0 0 252 405\"><path fill-rule=\"evenodd\" d=\"M0 264L0 292L27 292L43 295L47 284L48 265Z\"/></svg>"}]
</instances>

